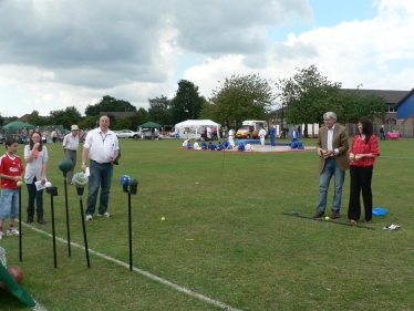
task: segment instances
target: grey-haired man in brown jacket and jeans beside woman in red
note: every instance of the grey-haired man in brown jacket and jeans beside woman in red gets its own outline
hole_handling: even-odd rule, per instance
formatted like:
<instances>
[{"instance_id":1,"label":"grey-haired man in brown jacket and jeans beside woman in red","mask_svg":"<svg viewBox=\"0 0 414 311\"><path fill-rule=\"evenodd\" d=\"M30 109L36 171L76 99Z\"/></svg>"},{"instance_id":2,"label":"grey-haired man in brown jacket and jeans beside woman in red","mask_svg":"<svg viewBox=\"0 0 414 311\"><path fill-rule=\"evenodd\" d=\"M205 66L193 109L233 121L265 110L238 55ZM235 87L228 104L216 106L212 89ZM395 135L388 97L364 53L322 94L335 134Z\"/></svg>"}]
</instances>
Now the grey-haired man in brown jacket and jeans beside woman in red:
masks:
<instances>
[{"instance_id":1,"label":"grey-haired man in brown jacket and jeans beside woman in red","mask_svg":"<svg viewBox=\"0 0 414 311\"><path fill-rule=\"evenodd\" d=\"M324 216L328 198L329 184L334 177L334 191L332 201L332 216L340 217L342 201L342 186L345 179L345 170L350 168L348 158L348 134L346 128L337 124L337 115L333 112L323 114L325 126L319 128L317 152L319 160L319 204L313 218Z\"/></svg>"}]
</instances>

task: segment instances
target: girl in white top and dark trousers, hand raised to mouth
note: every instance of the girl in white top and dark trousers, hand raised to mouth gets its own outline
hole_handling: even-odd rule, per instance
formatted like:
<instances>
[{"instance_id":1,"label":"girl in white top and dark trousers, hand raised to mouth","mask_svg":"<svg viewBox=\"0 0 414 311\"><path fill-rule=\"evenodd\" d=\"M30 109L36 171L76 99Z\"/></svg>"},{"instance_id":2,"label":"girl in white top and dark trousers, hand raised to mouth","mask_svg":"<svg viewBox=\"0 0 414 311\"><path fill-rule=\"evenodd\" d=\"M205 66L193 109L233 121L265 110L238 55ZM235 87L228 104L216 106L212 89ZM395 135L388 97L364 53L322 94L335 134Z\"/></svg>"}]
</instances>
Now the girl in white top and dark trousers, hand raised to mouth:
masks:
<instances>
[{"instance_id":1,"label":"girl in white top and dark trousers, hand raised to mouth","mask_svg":"<svg viewBox=\"0 0 414 311\"><path fill-rule=\"evenodd\" d=\"M49 160L48 148L43 146L40 132L34 131L30 136L29 144L24 146L24 160L27 163L24 180L29 194L27 222L33 222L35 200L38 222L46 225L46 221L43 219L43 189L38 190L35 185L37 182L40 182L43 186L46 183Z\"/></svg>"}]
</instances>

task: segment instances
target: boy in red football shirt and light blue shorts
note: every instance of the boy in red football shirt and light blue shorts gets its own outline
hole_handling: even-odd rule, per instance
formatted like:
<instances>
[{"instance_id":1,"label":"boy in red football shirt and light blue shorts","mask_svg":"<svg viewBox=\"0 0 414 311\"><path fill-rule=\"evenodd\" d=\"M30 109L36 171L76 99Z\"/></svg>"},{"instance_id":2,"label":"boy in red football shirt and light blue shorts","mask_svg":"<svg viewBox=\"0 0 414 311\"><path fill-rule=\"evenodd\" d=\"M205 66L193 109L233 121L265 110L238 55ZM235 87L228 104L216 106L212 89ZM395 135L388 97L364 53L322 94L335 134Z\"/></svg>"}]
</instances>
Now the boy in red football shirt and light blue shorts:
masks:
<instances>
[{"instance_id":1,"label":"boy in red football shirt and light blue shorts","mask_svg":"<svg viewBox=\"0 0 414 311\"><path fill-rule=\"evenodd\" d=\"M15 153L19 148L19 142L9 137L6 139L6 154L0 157L0 178L1 178L1 198L0 198L0 240L3 238L4 219L10 218L8 236L18 236L19 230L14 228L14 218L19 216L19 186L21 175L24 170L20 156Z\"/></svg>"}]
</instances>

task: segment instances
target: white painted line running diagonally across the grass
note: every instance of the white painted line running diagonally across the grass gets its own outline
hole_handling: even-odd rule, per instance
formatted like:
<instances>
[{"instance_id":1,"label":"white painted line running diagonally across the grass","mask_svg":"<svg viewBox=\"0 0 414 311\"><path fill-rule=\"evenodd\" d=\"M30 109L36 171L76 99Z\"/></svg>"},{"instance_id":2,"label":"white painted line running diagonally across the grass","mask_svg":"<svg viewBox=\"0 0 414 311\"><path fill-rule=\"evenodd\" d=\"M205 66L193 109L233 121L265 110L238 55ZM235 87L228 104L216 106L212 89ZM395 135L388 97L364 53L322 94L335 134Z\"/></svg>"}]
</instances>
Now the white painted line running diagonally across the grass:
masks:
<instances>
[{"instance_id":1,"label":"white painted line running diagonally across the grass","mask_svg":"<svg viewBox=\"0 0 414 311\"><path fill-rule=\"evenodd\" d=\"M52 236L51 234L48 234L48 232L45 232L45 231L43 231L43 230L40 230L40 229L38 229L38 228L34 228L34 227L32 227L32 226L30 226L30 225L27 225L27 224L24 224L24 222L21 222L21 224L24 225L24 226L27 226L27 227L29 227L29 228L31 228L31 229L34 230L34 231L38 231L38 232L40 232L40 234L43 234L43 235L45 235L45 236L49 236L49 237L53 238L53 236ZM63 239L63 238L59 238L59 237L56 237L56 240L59 240L59 241L61 241L61 242L64 242L64 243L68 243L68 240L65 240L65 239ZM81 248L81 249L85 249L84 246L81 246L81 245L75 243L75 242L71 242L71 245L74 246L74 247ZM123 266L123 267L130 269L130 263L126 263L126 262L121 261L121 260L118 260L118 259L116 259L116 258L113 258L113 257L107 256L107 255L105 255L105 253L102 253L102 252L99 252L99 251L96 251L96 250L93 250L93 249L91 249L91 248L87 248L87 250L89 250L90 252L92 252L92 253L99 256L99 257L102 257L102 258L104 258L104 259L107 259L107 260L110 260L110 261L112 261L112 262L115 262L115 263L117 263L117 265L120 265L120 266ZM182 286L178 286L178 284L176 284L176 283L173 283L173 282L170 282L170 281L168 281L168 280L166 280L166 279L163 279L163 278L161 278L161 277L157 277L157 276L155 276L155 274L153 274L153 273L151 273L151 272L148 272L148 271L145 271L145 270L143 270L143 269L139 269L139 268L133 267L133 270L134 270L135 272L138 272L139 274L143 274L143 276L145 276L145 277L152 279L152 280L155 280L155 281L157 281L157 282L159 282L159 283L163 283L163 284L165 284L165 286L172 287L173 289L178 290L178 291L180 291L180 292L184 292L184 293L186 293L186 294L188 294L188 296L196 297L196 298L198 298L198 299L200 299L200 300L203 300L203 301L206 301L206 302L208 302L208 303L210 303L210 304L214 304L214 305L216 305L216 307L219 307L219 308L221 308L221 309L224 309L224 310L230 310L230 311L244 311L244 310L241 310L241 309L234 308L234 307L231 307L231 305L229 305L229 304L226 304L226 303L224 303L224 302L220 302L220 301L218 301L218 300L215 300L215 299L209 298L209 297L207 297L207 296L204 296L204 294L201 294L201 293L195 292L195 291L193 291L193 290L189 290L189 289L186 289L186 288L184 288L184 287L182 287Z\"/></svg>"}]
</instances>

